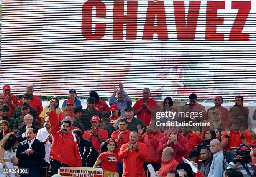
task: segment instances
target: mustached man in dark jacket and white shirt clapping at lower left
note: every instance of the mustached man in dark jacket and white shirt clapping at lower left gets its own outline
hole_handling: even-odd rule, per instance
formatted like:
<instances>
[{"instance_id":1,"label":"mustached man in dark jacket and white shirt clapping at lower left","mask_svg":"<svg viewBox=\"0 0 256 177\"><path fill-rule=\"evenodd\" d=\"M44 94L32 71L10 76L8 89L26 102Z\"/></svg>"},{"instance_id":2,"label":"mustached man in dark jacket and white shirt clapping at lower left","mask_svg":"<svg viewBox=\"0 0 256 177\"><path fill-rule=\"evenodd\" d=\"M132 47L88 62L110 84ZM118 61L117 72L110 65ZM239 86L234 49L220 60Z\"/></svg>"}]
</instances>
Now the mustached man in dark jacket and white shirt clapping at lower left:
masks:
<instances>
[{"instance_id":1,"label":"mustached man in dark jacket and white shirt clapping at lower left","mask_svg":"<svg viewBox=\"0 0 256 177\"><path fill-rule=\"evenodd\" d=\"M26 131L27 139L17 148L16 157L21 168L29 168L28 175L22 177L41 177L42 161L45 157L44 143L36 139L36 130L29 128Z\"/></svg>"}]
</instances>

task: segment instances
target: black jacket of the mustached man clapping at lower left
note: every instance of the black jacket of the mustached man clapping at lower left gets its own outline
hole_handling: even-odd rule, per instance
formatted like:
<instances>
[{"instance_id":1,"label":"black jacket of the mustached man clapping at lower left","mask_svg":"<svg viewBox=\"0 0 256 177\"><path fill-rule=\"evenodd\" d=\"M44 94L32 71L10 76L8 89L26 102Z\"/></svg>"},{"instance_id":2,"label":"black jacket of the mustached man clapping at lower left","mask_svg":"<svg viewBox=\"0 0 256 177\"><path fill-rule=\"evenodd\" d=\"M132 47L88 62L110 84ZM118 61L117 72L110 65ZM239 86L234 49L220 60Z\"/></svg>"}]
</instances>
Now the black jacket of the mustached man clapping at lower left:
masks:
<instances>
[{"instance_id":1,"label":"black jacket of the mustached man clapping at lower left","mask_svg":"<svg viewBox=\"0 0 256 177\"><path fill-rule=\"evenodd\" d=\"M20 142L17 148L16 157L19 159L19 167L29 168L29 171L38 171L42 170L42 162L45 157L44 143L38 139L35 139L31 145L33 149L33 154L26 154L26 150L29 149L28 140L26 139L23 142Z\"/></svg>"}]
</instances>

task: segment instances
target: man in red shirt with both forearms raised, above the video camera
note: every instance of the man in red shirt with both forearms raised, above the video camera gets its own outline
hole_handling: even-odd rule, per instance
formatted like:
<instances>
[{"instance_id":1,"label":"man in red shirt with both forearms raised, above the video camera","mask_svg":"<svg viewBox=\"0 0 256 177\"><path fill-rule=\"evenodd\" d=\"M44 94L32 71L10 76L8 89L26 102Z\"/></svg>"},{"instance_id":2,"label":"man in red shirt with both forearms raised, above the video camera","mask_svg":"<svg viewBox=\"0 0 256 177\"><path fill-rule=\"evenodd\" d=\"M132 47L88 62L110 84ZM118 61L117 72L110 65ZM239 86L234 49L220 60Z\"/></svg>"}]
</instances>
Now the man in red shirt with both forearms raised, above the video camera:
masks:
<instances>
[{"instance_id":1,"label":"man in red shirt with both forearms raised, above the video camera","mask_svg":"<svg viewBox=\"0 0 256 177\"><path fill-rule=\"evenodd\" d=\"M252 137L248 131L241 129L242 120L238 117L232 121L232 130L227 127L225 133L221 137L221 148L230 150L231 147L238 147L240 144L246 144L248 148L251 147Z\"/></svg>"}]
</instances>

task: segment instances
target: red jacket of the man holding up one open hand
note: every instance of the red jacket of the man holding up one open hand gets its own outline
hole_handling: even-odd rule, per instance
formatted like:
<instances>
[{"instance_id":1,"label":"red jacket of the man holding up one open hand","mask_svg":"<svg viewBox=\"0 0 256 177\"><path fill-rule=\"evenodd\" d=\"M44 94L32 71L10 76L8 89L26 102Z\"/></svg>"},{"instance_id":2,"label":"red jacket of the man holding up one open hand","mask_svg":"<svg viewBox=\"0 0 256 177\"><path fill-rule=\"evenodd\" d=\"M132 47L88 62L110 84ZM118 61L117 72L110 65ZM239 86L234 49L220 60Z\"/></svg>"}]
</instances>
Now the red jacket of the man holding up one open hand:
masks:
<instances>
[{"instance_id":1,"label":"red jacket of the man holding up one open hand","mask_svg":"<svg viewBox=\"0 0 256 177\"><path fill-rule=\"evenodd\" d=\"M147 157L146 162L154 162L160 164L161 156L157 151L160 140L164 137L164 134L160 131L152 132L152 134L144 133L139 137L139 142L146 144Z\"/></svg>"}]
</instances>

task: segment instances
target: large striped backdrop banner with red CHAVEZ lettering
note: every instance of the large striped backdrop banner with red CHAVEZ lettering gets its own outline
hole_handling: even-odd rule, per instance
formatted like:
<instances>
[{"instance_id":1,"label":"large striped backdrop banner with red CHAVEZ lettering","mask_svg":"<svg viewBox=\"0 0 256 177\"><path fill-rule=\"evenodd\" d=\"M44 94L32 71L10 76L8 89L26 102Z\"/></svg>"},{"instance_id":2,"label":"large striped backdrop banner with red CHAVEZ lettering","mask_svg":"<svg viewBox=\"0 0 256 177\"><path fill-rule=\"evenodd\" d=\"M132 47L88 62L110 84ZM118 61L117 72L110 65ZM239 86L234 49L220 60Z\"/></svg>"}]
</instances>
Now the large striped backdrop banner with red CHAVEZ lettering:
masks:
<instances>
[{"instance_id":1,"label":"large striped backdrop banner with red CHAVEZ lettering","mask_svg":"<svg viewBox=\"0 0 256 177\"><path fill-rule=\"evenodd\" d=\"M1 88L256 99L256 0L2 0Z\"/></svg>"}]
</instances>

